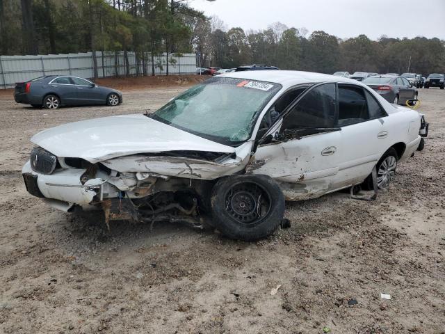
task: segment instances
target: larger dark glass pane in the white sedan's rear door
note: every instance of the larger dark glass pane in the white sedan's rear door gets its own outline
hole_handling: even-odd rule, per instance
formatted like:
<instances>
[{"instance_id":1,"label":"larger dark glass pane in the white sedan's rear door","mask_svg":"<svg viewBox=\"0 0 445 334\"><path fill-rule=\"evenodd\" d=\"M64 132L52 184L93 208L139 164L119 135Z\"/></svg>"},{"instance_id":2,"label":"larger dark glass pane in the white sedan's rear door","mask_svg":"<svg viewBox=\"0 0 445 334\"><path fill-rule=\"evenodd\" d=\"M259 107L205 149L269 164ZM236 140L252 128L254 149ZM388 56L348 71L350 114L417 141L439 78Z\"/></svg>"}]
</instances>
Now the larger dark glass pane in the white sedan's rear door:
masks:
<instances>
[{"instance_id":1,"label":"larger dark glass pane in the white sedan's rear door","mask_svg":"<svg viewBox=\"0 0 445 334\"><path fill-rule=\"evenodd\" d=\"M368 105L361 87L339 86L339 127L369 120Z\"/></svg>"}]
</instances>

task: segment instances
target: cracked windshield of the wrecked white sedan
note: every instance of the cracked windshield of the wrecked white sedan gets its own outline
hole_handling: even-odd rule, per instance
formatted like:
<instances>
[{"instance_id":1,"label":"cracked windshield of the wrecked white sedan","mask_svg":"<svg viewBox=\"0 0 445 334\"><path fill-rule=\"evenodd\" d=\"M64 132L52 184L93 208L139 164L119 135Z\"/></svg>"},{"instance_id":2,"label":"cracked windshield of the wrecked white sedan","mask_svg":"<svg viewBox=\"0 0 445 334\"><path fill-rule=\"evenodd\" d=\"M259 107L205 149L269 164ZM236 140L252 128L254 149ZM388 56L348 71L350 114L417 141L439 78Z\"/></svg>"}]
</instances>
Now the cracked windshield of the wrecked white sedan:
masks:
<instances>
[{"instance_id":1,"label":"cracked windshield of the wrecked white sedan","mask_svg":"<svg viewBox=\"0 0 445 334\"><path fill-rule=\"evenodd\" d=\"M280 88L264 81L212 78L186 90L152 118L220 143L246 141L258 114Z\"/></svg>"}]
</instances>

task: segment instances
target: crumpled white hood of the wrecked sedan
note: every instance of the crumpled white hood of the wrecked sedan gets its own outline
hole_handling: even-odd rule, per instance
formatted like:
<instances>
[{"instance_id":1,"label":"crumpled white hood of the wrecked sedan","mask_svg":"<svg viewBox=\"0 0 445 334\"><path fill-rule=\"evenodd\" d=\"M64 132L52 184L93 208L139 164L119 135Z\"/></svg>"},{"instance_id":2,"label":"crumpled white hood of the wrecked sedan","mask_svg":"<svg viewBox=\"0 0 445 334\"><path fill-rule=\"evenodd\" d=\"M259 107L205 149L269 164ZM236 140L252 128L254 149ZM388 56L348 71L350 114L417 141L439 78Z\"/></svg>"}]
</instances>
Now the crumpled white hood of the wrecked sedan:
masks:
<instances>
[{"instance_id":1,"label":"crumpled white hood of the wrecked sedan","mask_svg":"<svg viewBox=\"0 0 445 334\"><path fill-rule=\"evenodd\" d=\"M232 153L235 149L189 134L142 114L111 116L67 123L31 138L57 157L92 163L130 154L193 150Z\"/></svg>"}]
</instances>

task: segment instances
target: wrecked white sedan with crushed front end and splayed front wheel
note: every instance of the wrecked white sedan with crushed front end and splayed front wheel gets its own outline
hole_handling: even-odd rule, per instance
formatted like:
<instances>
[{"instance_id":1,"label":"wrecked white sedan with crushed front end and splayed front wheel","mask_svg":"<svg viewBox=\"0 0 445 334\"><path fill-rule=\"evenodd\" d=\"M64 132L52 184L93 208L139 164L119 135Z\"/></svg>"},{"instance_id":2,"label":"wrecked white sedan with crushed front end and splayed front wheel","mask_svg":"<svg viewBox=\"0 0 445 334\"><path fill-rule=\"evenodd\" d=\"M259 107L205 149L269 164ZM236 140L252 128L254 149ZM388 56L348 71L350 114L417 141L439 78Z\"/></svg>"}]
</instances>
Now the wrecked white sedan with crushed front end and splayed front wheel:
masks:
<instances>
[{"instance_id":1,"label":"wrecked white sedan with crushed front end and splayed front wheel","mask_svg":"<svg viewBox=\"0 0 445 334\"><path fill-rule=\"evenodd\" d=\"M208 222L256 240L284 201L357 184L385 189L426 123L351 79L293 71L213 77L152 114L84 120L33 136L26 189L112 220Z\"/></svg>"}]
</instances>

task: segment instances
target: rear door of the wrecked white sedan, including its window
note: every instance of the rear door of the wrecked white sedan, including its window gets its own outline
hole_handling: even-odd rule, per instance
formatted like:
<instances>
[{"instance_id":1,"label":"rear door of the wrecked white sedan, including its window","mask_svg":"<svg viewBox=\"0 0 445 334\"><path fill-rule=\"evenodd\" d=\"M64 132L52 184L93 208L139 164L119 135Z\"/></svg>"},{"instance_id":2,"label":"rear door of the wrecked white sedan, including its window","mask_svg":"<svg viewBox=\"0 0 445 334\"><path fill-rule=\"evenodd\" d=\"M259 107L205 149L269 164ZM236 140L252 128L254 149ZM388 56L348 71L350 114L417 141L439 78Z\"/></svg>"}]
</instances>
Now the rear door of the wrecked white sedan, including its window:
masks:
<instances>
[{"instance_id":1,"label":"rear door of the wrecked white sedan, including its window","mask_svg":"<svg viewBox=\"0 0 445 334\"><path fill-rule=\"evenodd\" d=\"M338 86L340 144L339 173L334 189L362 182L387 149L387 113L366 88L352 84Z\"/></svg>"}]
</instances>

